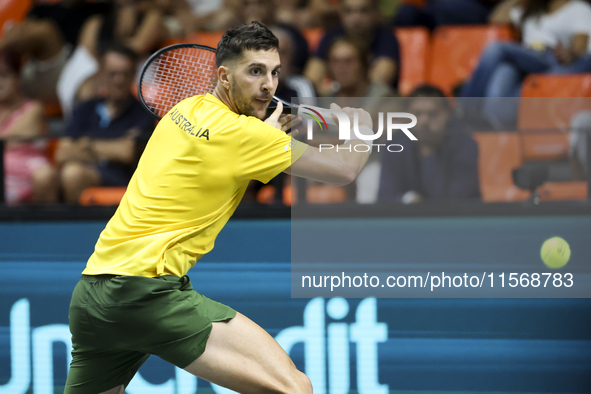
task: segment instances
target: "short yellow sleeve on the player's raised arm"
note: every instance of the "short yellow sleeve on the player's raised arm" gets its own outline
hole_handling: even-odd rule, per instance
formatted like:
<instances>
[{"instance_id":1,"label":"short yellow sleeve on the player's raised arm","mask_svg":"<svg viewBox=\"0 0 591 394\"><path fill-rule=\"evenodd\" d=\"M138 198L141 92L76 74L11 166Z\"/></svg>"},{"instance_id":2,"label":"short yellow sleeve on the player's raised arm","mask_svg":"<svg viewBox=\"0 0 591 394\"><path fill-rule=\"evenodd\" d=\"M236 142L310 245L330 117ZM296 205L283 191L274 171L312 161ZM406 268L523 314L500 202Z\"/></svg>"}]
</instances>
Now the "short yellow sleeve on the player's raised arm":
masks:
<instances>
[{"instance_id":1,"label":"short yellow sleeve on the player's raised arm","mask_svg":"<svg viewBox=\"0 0 591 394\"><path fill-rule=\"evenodd\" d=\"M307 147L267 123L249 118L240 137L236 176L267 183L299 159Z\"/></svg>"}]
</instances>

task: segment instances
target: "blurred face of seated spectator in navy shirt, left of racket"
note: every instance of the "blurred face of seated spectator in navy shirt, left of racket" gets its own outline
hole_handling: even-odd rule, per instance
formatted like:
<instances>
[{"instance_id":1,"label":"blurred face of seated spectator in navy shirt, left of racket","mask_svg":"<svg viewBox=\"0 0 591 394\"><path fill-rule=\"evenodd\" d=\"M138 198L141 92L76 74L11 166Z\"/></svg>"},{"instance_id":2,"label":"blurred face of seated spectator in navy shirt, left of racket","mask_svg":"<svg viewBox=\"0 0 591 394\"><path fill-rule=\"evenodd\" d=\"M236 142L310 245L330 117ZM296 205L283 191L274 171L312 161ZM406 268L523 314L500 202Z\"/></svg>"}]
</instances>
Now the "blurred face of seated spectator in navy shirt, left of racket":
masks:
<instances>
[{"instance_id":1,"label":"blurred face of seated spectator in navy shirt, left of racket","mask_svg":"<svg viewBox=\"0 0 591 394\"><path fill-rule=\"evenodd\" d=\"M111 100L125 100L131 95L135 65L125 55L108 52L103 57L107 96Z\"/></svg>"}]
</instances>

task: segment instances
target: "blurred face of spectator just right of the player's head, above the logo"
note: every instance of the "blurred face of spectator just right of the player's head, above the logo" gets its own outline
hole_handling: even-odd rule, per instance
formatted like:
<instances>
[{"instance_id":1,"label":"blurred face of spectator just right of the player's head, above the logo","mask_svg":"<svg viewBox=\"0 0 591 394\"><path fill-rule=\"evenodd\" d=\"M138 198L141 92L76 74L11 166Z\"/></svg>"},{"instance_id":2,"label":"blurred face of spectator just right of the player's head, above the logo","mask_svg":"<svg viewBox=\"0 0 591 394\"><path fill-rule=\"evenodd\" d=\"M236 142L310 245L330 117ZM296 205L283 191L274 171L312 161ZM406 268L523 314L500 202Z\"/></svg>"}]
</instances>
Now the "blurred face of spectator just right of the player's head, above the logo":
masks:
<instances>
[{"instance_id":1,"label":"blurred face of spectator just right of the player's head, above the logo","mask_svg":"<svg viewBox=\"0 0 591 394\"><path fill-rule=\"evenodd\" d=\"M350 89L357 83L365 81L361 74L357 49L347 42L338 42L331 48L328 55L328 68L342 88Z\"/></svg>"}]
</instances>

